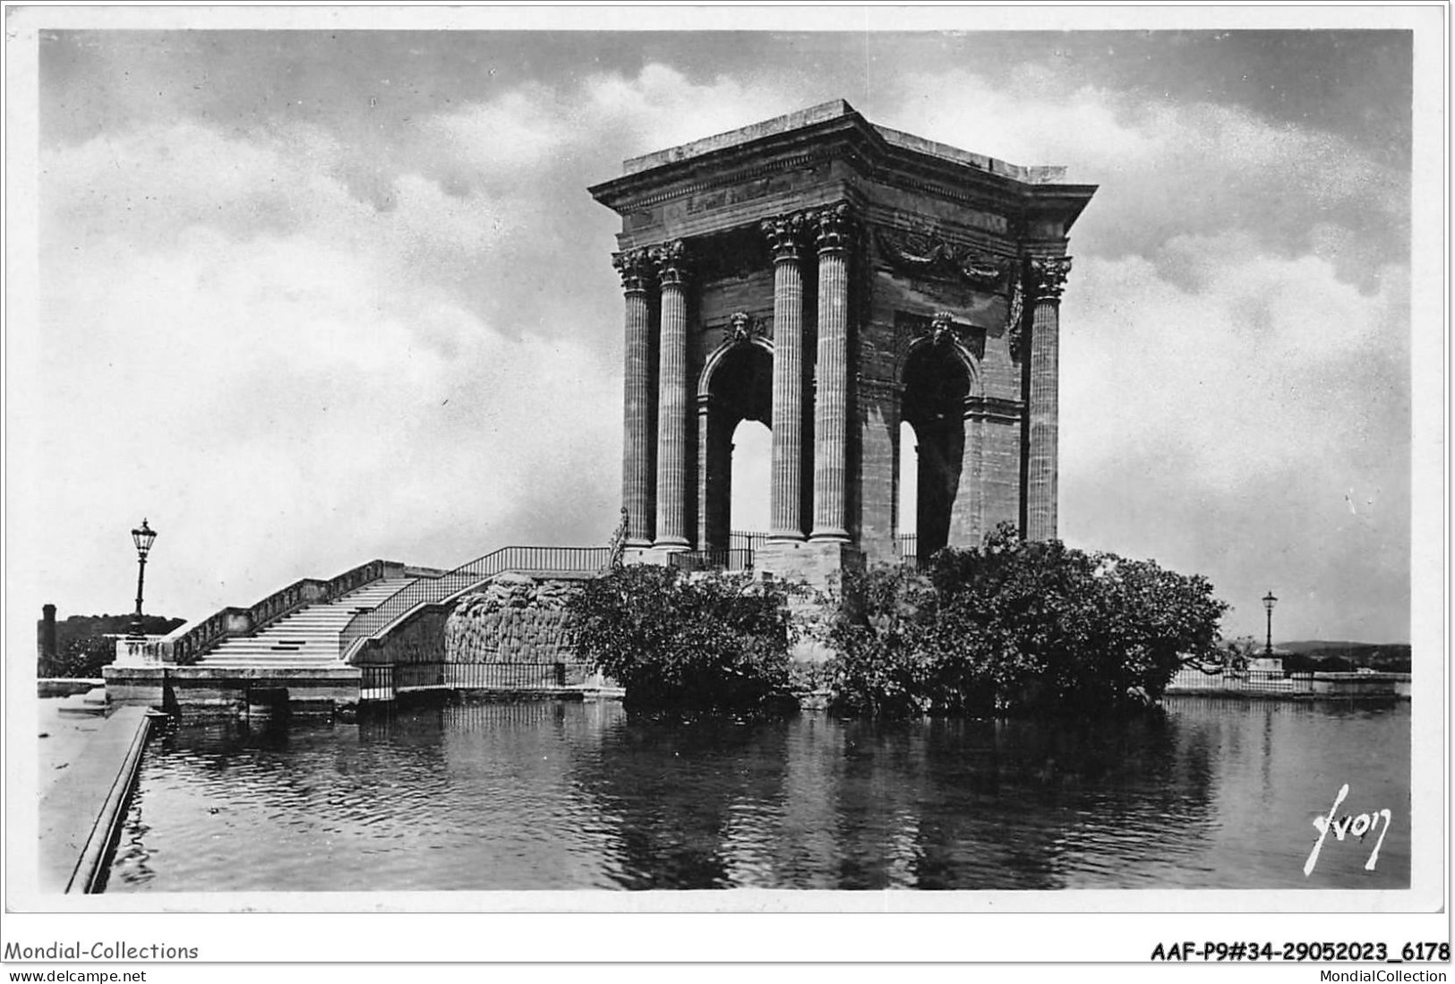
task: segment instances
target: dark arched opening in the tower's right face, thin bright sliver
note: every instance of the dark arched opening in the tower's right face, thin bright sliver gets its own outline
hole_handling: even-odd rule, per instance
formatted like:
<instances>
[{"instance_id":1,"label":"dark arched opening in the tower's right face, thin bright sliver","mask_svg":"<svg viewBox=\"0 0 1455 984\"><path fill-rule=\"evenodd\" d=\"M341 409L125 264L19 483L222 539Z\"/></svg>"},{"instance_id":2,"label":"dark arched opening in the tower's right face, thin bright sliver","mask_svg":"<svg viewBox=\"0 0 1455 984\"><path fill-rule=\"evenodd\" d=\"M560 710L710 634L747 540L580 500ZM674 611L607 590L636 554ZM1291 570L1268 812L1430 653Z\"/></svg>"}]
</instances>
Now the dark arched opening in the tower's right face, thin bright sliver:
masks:
<instances>
[{"instance_id":1,"label":"dark arched opening in the tower's right face, thin bright sliver","mask_svg":"<svg viewBox=\"0 0 1455 984\"><path fill-rule=\"evenodd\" d=\"M950 541L950 521L965 464L965 397L970 374L950 342L911 352L904 373L902 419L914 429L915 553L925 559ZM904 461L901 438L901 461ZM901 476L908 469L901 467ZM901 477L901 499L908 482ZM905 507L901 507L901 518Z\"/></svg>"}]
</instances>

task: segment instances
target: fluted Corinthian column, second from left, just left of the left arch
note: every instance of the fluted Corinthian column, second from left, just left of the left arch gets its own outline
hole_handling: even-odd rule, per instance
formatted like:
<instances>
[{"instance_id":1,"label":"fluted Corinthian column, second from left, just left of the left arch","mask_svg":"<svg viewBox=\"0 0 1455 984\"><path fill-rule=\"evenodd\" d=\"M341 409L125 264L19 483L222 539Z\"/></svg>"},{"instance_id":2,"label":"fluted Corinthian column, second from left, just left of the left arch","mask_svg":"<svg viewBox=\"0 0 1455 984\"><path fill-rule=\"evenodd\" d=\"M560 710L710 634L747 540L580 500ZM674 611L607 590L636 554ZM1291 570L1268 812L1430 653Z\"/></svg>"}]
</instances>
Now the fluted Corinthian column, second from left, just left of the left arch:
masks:
<instances>
[{"instance_id":1,"label":"fluted Corinthian column, second from left, just left of the left arch","mask_svg":"<svg viewBox=\"0 0 1455 984\"><path fill-rule=\"evenodd\" d=\"M656 412L656 541L685 550L687 539L687 250L682 240L652 250L662 282L662 342Z\"/></svg>"}]
</instances>

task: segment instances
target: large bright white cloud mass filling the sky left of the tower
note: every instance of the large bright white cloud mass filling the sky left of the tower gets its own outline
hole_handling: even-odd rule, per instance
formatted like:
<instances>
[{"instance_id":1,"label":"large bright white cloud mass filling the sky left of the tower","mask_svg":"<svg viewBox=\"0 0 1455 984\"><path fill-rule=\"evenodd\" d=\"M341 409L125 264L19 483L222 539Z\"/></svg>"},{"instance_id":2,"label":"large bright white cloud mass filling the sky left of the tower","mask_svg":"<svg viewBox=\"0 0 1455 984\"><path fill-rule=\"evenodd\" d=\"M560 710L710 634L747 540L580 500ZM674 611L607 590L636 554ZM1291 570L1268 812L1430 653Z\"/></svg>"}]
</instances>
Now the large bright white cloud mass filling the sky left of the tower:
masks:
<instances>
[{"instance_id":1,"label":"large bright white cloud mass filling the sky left of the tower","mask_svg":"<svg viewBox=\"0 0 1455 984\"><path fill-rule=\"evenodd\" d=\"M522 435L573 456L592 501L614 477L614 367L429 277L522 281L492 265L480 201L404 175L377 211L329 153L189 124L109 146L47 160L47 346L22 396L39 424L16 454L44 488L19 540L48 594L124 610L95 585L127 584L112 534L143 512L163 531L148 608L189 617L381 553L450 565L575 533L518 515L538 479Z\"/></svg>"}]
</instances>

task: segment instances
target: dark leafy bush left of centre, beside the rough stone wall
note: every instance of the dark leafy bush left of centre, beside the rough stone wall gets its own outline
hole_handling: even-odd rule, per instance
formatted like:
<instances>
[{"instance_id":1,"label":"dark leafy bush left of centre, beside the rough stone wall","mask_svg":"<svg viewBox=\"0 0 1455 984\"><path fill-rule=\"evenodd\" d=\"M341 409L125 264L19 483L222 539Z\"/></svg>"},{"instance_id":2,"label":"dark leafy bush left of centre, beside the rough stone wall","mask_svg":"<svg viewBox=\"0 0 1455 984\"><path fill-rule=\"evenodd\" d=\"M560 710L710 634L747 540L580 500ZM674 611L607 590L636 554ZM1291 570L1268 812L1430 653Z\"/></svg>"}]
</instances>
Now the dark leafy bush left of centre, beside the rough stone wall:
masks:
<instances>
[{"instance_id":1,"label":"dark leafy bush left of centre, beside the rough stone wall","mask_svg":"<svg viewBox=\"0 0 1455 984\"><path fill-rule=\"evenodd\" d=\"M626 687L629 707L752 710L790 689L786 603L746 575L631 565L589 581L567 610L576 652Z\"/></svg>"}]
</instances>

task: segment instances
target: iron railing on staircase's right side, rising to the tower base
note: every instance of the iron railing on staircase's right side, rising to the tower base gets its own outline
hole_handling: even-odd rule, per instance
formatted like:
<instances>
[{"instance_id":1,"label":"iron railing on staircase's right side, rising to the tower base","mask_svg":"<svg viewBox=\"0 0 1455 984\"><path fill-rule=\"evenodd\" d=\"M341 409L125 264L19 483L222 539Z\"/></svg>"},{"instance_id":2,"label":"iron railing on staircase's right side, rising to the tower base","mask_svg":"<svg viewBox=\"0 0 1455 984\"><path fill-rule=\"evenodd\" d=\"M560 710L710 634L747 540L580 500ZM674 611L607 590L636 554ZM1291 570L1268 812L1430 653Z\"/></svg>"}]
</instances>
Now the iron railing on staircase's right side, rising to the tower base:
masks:
<instances>
[{"instance_id":1,"label":"iron railing on staircase's right side, rising to the tower base","mask_svg":"<svg viewBox=\"0 0 1455 984\"><path fill-rule=\"evenodd\" d=\"M367 639L431 604L444 604L486 578L519 574L595 574L611 562L611 547L501 547L436 578L419 578L354 616L339 633L339 656L348 662Z\"/></svg>"}]
</instances>

